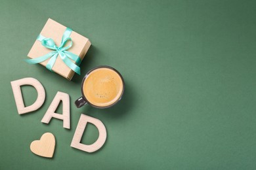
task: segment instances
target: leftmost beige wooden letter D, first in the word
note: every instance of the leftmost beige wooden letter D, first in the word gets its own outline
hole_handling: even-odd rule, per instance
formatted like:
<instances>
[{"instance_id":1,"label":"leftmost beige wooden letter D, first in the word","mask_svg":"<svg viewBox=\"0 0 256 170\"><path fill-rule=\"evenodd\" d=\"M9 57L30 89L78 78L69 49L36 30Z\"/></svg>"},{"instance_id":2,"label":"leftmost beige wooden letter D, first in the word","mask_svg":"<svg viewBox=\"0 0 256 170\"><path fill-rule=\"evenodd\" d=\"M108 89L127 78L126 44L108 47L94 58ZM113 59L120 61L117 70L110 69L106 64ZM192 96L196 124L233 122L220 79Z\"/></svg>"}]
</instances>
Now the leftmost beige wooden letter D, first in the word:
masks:
<instances>
[{"instance_id":1,"label":"leftmost beige wooden letter D, first in the word","mask_svg":"<svg viewBox=\"0 0 256 170\"><path fill-rule=\"evenodd\" d=\"M32 105L25 107L24 101L22 98L22 92L20 89L20 86L23 85L30 85L37 90L37 99L35 103ZM43 85L35 78L32 77L27 77L27 78L22 78L20 80L15 80L11 82L12 86L12 92L14 95L16 107L18 110L18 114L24 114L27 112L32 112L34 110L39 109L41 105L43 105L43 102L45 102L45 89L43 88Z\"/></svg>"}]
</instances>

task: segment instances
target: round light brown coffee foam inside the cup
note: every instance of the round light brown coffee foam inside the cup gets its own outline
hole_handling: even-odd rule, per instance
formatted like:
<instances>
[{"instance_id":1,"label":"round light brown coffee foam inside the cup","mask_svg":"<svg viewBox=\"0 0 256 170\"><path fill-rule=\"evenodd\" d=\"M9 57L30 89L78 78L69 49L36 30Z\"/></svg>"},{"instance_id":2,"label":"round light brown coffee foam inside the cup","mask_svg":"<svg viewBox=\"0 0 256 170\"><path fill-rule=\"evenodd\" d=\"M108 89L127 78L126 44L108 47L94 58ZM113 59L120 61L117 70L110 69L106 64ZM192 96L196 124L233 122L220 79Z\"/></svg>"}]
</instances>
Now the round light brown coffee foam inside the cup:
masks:
<instances>
[{"instance_id":1,"label":"round light brown coffee foam inside the cup","mask_svg":"<svg viewBox=\"0 0 256 170\"><path fill-rule=\"evenodd\" d=\"M123 81L116 71L98 68L89 73L83 82L83 94L89 103L107 107L115 103L123 92Z\"/></svg>"}]
</instances>

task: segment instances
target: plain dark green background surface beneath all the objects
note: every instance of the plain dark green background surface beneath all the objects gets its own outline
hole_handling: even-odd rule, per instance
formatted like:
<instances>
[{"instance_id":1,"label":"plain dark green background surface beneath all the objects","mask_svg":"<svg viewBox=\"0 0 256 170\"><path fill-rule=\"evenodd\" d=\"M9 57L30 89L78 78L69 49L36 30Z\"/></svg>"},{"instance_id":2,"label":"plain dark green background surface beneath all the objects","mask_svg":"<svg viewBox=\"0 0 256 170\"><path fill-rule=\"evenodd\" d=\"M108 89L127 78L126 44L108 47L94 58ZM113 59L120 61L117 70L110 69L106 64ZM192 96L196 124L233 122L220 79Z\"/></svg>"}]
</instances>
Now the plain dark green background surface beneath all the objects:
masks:
<instances>
[{"instance_id":1,"label":"plain dark green background surface beneath all the objects","mask_svg":"<svg viewBox=\"0 0 256 170\"><path fill-rule=\"evenodd\" d=\"M255 9L255 1L1 1L0 169L256 169ZM23 61L48 18L93 44L71 82ZM123 99L75 108L83 75L98 65L123 75ZM29 76L47 97L19 115L10 82ZM70 130L41 123L58 91L70 95ZM22 93L26 105L37 96L31 86ZM108 131L91 154L70 147L81 113ZM30 151L47 131L53 159ZM89 124L82 142L97 137Z\"/></svg>"}]
</instances>

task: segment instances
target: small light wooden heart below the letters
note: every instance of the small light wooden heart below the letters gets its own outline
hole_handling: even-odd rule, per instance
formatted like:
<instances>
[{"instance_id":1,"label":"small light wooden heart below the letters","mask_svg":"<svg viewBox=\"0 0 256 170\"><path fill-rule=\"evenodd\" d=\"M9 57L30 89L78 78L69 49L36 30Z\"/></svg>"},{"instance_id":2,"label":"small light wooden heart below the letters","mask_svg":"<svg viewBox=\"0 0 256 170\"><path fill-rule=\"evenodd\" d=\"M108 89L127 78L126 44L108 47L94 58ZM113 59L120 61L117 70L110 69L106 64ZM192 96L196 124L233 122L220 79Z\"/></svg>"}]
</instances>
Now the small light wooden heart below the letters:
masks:
<instances>
[{"instance_id":1,"label":"small light wooden heart below the letters","mask_svg":"<svg viewBox=\"0 0 256 170\"><path fill-rule=\"evenodd\" d=\"M55 137L53 133L44 133L40 140L30 144L30 150L39 156L53 158L55 148Z\"/></svg>"}]
</instances>

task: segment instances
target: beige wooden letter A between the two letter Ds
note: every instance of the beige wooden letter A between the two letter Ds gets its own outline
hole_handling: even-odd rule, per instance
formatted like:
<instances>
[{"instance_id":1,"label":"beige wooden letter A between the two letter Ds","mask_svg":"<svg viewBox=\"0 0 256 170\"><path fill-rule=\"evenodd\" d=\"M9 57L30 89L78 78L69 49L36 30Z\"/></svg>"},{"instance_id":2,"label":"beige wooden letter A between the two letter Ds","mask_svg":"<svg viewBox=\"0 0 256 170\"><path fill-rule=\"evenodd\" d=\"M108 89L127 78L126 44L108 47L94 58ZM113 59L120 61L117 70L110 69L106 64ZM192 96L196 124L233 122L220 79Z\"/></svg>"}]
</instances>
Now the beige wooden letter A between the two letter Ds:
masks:
<instances>
[{"instance_id":1,"label":"beige wooden letter A between the two letter Ds","mask_svg":"<svg viewBox=\"0 0 256 170\"><path fill-rule=\"evenodd\" d=\"M62 101L62 114L54 112L60 104L60 101ZM62 92L56 93L41 122L49 124L51 118L63 120L63 127L70 129L70 95Z\"/></svg>"}]
</instances>

